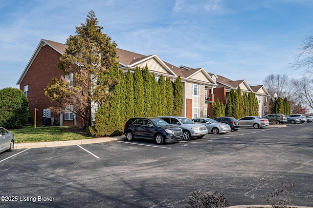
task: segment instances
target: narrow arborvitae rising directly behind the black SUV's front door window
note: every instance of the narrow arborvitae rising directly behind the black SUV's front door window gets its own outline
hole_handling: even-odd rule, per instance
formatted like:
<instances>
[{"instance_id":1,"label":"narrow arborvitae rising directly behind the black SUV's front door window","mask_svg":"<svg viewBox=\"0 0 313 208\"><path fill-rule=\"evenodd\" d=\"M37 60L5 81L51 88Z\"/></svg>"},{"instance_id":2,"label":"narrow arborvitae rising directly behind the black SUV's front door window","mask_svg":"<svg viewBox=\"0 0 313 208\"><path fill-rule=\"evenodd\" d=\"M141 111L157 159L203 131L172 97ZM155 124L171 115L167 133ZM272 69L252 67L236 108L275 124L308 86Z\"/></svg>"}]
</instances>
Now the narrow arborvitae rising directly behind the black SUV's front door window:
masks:
<instances>
[{"instance_id":1,"label":"narrow arborvitae rising directly behind the black SUV's front door window","mask_svg":"<svg viewBox=\"0 0 313 208\"><path fill-rule=\"evenodd\" d=\"M142 77L143 77L143 89L144 89L144 116L150 117L152 115L152 80L151 75L148 70L148 66L146 65L144 69L142 69Z\"/></svg>"}]
</instances>

